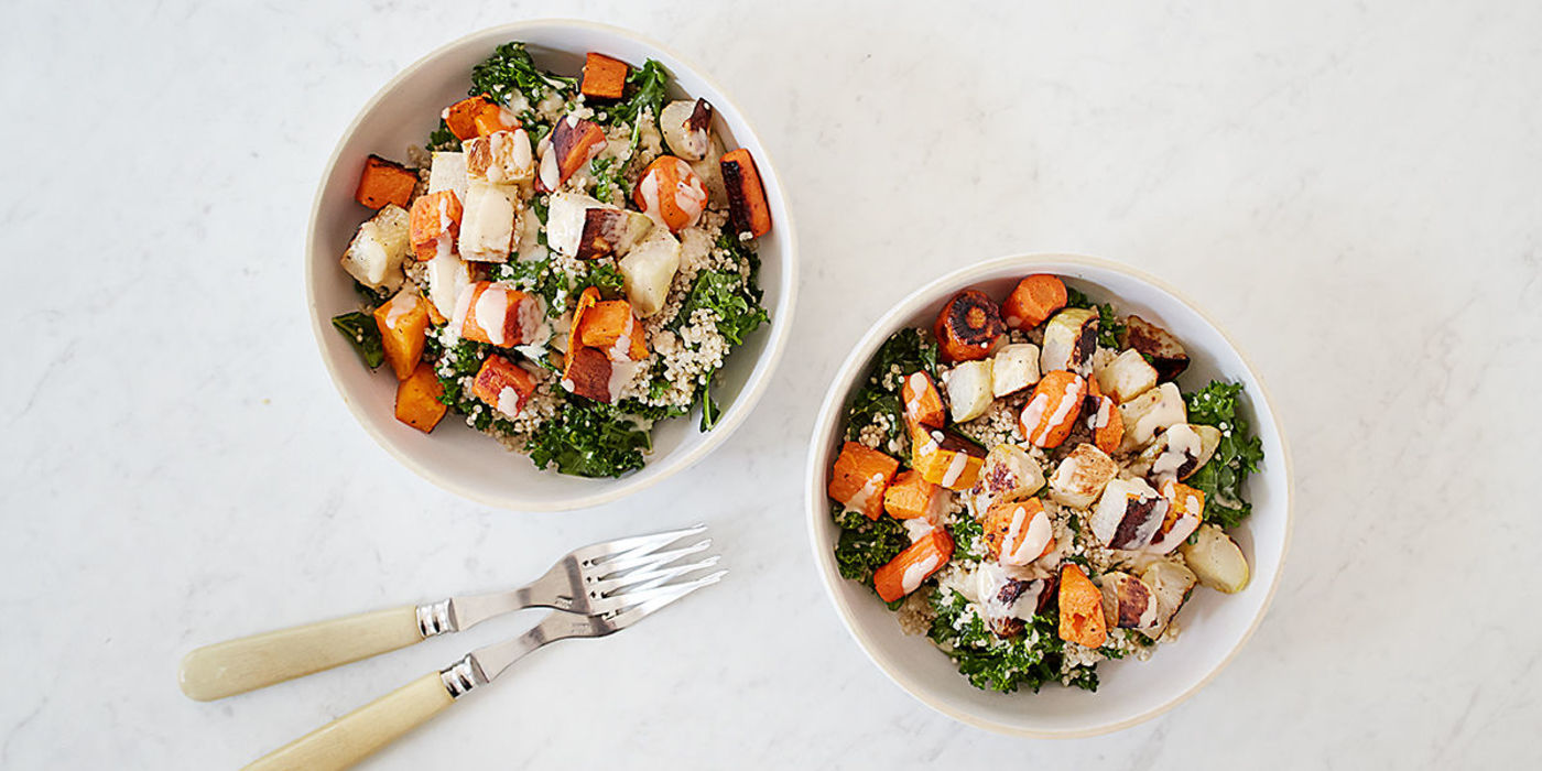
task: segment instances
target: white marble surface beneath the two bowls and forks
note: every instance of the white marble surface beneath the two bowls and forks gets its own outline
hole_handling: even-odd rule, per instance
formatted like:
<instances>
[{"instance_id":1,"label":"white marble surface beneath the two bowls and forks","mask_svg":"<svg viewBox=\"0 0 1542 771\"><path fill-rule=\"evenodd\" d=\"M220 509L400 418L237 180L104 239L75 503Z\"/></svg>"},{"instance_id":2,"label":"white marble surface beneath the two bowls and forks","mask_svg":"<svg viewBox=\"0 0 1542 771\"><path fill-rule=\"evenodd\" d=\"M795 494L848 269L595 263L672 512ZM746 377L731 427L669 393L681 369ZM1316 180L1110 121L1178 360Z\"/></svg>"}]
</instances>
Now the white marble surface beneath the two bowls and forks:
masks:
<instances>
[{"instance_id":1,"label":"white marble surface beneath the two bowls and forks","mask_svg":"<svg viewBox=\"0 0 1542 771\"><path fill-rule=\"evenodd\" d=\"M728 583L543 651L370 768L1537 759L1542 6L8 6L0 766L237 766L538 615L213 705L177 691L190 648L695 518ZM376 449L301 285L316 176L362 102L449 39L538 15L631 26L712 72L776 154L805 259L788 361L731 441L544 517ZM959 726L870 666L797 493L870 319L1047 250L1140 265L1226 324L1278 401L1298 497L1232 666L1166 717L1059 743Z\"/></svg>"}]
</instances>

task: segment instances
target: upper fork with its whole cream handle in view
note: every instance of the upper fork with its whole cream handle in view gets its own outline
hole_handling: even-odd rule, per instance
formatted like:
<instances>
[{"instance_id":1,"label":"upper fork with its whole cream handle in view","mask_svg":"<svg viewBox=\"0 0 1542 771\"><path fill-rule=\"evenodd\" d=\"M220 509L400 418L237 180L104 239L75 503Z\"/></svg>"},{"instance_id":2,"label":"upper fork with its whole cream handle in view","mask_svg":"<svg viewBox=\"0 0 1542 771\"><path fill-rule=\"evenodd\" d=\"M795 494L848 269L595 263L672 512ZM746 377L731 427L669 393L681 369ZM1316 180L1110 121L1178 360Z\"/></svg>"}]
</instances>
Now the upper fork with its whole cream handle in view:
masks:
<instances>
[{"instance_id":1,"label":"upper fork with its whole cream handle in view","mask_svg":"<svg viewBox=\"0 0 1542 771\"><path fill-rule=\"evenodd\" d=\"M672 578L717 564L717 557L675 564L685 557L705 550L712 544L711 540L660 550L705 530L705 524L695 524L678 530L584 546L560 557L544 575L513 591L389 608L204 646L182 658L177 680L183 694L199 702L210 702L396 651L441 634L461 632L487 618L524 608L555 608L567 614L612 620L617 618L618 611L626 608L657 609L660 606L648 603L665 598L665 604L668 604L680 595L678 592L705 586L722 577L719 572L697 581L668 583ZM648 615L648 612L641 615ZM581 626L588 621L592 618L554 614L532 632L546 629L543 634L550 634L566 631L567 628L563 625ZM608 632L563 634L549 640L597 637L611 634L626 623ZM509 662L512 663L512 658Z\"/></svg>"}]
</instances>

